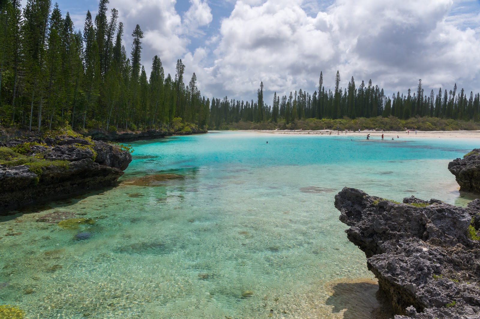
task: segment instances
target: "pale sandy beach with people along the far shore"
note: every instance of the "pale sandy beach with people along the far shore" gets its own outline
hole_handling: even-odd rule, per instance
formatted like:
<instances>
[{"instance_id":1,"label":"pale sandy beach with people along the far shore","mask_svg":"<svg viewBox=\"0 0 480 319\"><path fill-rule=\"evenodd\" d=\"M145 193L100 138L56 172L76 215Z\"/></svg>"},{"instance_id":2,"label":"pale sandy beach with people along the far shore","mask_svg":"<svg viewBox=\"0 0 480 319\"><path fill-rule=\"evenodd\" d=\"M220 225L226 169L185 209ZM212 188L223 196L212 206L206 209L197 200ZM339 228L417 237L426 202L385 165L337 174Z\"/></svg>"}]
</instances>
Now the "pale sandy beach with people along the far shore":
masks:
<instances>
[{"instance_id":1,"label":"pale sandy beach with people along the far shore","mask_svg":"<svg viewBox=\"0 0 480 319\"><path fill-rule=\"evenodd\" d=\"M374 131L374 130L362 130L362 131L336 131L336 130L242 130L245 132L258 132L258 133L270 133L270 134L310 134L310 135L349 135L360 136L366 139L367 134L370 134L370 138L381 139L384 134L384 140L392 140L394 138L420 138L420 137L440 137L440 138L480 138L480 130L455 130L455 131L420 131L415 130L408 131Z\"/></svg>"}]
</instances>

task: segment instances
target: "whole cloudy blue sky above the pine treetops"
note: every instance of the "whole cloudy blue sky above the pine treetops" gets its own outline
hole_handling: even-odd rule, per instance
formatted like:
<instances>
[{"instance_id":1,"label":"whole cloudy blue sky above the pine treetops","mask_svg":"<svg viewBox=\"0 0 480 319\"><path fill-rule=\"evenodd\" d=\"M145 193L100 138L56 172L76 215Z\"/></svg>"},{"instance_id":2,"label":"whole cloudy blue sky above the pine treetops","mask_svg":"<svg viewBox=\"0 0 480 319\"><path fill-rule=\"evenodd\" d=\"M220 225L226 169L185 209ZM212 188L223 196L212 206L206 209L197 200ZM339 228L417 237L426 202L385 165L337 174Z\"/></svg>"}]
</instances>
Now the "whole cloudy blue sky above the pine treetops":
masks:
<instances>
[{"instance_id":1,"label":"whole cloudy blue sky above the pine treetops","mask_svg":"<svg viewBox=\"0 0 480 319\"><path fill-rule=\"evenodd\" d=\"M83 30L95 0L59 0ZM320 71L334 89L336 71L345 88L371 79L391 96L422 80L425 95L453 89L480 92L480 0L110 0L124 24L128 53L132 31L144 32L142 64L152 58L175 75L185 65L184 82L195 72L210 99L264 100L274 92L313 94Z\"/></svg>"}]
</instances>

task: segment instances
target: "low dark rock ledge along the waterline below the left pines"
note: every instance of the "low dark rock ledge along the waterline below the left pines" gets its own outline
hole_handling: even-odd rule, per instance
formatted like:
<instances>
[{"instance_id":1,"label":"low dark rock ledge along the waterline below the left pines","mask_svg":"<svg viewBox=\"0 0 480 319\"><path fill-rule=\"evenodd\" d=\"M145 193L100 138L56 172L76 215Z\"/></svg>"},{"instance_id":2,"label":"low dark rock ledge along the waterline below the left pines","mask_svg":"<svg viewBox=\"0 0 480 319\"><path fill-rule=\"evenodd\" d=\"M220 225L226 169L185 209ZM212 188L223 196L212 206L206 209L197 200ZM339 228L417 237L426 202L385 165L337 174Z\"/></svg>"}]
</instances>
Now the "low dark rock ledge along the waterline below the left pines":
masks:
<instances>
[{"instance_id":1,"label":"low dark rock ledge along the waterline below the left pines","mask_svg":"<svg viewBox=\"0 0 480 319\"><path fill-rule=\"evenodd\" d=\"M87 135L91 136L96 141L111 141L111 142L133 142L140 140L161 139L172 135L192 135L206 133L206 130L190 130L190 131L164 131L164 130L146 130L141 132L122 132L117 133L107 132L104 130L91 130Z\"/></svg>"}]
</instances>

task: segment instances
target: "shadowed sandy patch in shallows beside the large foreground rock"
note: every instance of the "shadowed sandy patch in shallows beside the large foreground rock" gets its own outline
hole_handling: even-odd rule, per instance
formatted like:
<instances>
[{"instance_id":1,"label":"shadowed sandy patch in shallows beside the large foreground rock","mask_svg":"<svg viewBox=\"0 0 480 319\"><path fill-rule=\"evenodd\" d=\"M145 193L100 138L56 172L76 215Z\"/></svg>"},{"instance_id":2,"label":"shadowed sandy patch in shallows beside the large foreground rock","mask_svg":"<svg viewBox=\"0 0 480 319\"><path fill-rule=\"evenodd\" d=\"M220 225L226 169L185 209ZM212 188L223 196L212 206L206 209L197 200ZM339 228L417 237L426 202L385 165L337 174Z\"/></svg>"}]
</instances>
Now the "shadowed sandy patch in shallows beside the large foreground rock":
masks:
<instances>
[{"instance_id":1,"label":"shadowed sandy patch in shallows beside the large foreground rock","mask_svg":"<svg viewBox=\"0 0 480 319\"><path fill-rule=\"evenodd\" d=\"M379 295L374 282L337 283L330 289L326 305L334 306L332 313L343 311L344 319L392 319L394 313L387 300Z\"/></svg>"}]
</instances>

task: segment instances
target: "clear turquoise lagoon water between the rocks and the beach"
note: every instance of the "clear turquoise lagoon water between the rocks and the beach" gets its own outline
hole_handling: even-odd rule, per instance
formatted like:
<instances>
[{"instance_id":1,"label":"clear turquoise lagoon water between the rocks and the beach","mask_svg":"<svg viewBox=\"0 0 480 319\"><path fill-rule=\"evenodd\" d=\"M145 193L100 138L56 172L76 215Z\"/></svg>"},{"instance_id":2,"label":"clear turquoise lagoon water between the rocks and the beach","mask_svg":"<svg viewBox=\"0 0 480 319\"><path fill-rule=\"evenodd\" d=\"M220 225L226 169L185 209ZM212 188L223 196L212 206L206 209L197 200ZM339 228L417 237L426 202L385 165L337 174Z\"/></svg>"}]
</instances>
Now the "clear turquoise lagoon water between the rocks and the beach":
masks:
<instances>
[{"instance_id":1,"label":"clear turquoise lagoon water between the rocks and the beach","mask_svg":"<svg viewBox=\"0 0 480 319\"><path fill-rule=\"evenodd\" d=\"M0 217L0 305L48 319L389 318L335 194L464 206L447 165L478 141L355 136L135 142L118 187Z\"/></svg>"}]
</instances>

